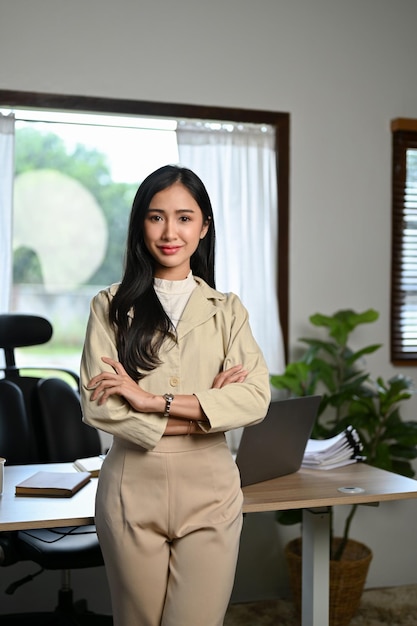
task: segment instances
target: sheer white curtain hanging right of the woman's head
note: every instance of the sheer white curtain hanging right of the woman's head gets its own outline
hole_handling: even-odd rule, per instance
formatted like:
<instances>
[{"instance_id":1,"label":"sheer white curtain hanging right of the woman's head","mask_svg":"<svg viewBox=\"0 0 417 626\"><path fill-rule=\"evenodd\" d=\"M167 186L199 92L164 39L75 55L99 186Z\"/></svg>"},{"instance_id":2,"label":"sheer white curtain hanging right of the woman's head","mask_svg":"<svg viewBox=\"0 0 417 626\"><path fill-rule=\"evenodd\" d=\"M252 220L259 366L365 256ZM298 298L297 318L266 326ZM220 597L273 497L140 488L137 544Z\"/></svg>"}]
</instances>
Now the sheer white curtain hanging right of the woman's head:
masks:
<instances>
[{"instance_id":1,"label":"sheer white curtain hanging right of the woman's head","mask_svg":"<svg viewBox=\"0 0 417 626\"><path fill-rule=\"evenodd\" d=\"M200 176L213 204L216 286L240 296L269 371L281 373L274 130L181 122L177 138L181 164Z\"/></svg>"}]
</instances>

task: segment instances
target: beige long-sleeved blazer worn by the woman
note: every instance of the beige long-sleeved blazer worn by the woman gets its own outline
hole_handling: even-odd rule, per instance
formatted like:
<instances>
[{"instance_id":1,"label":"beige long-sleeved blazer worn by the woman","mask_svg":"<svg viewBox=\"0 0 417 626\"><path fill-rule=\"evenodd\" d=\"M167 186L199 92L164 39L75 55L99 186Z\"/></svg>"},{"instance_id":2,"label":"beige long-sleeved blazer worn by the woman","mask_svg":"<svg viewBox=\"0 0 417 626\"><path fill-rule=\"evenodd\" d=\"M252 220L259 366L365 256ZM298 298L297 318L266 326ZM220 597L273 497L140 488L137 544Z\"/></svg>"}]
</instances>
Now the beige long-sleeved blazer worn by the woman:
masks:
<instances>
[{"instance_id":1,"label":"beige long-sleeved blazer worn by the woman","mask_svg":"<svg viewBox=\"0 0 417 626\"><path fill-rule=\"evenodd\" d=\"M209 420L208 432L221 432L261 421L270 402L269 372L253 338L248 313L235 294L222 294L195 278L192 292L177 326L177 339L167 340L160 352L162 365L140 381L154 394L194 394ZM81 402L84 421L146 449L156 446L167 418L140 413L119 396L103 405L90 401L88 381L111 369L102 356L118 359L114 331L108 321L109 302L117 285L92 300L81 361ZM244 383L212 389L215 376L241 363L249 374Z\"/></svg>"}]
</instances>

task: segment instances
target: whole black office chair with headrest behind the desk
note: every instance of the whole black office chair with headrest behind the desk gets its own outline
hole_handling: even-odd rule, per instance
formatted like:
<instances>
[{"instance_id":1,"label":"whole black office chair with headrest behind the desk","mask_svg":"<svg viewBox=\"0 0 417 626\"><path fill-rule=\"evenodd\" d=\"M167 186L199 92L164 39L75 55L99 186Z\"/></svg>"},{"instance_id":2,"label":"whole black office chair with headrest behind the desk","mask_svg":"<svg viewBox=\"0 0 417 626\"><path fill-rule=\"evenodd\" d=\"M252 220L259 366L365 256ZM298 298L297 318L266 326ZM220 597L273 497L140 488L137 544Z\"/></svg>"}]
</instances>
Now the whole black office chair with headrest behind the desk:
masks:
<instances>
[{"instance_id":1,"label":"whole black office chair with headrest behind the desk","mask_svg":"<svg viewBox=\"0 0 417 626\"><path fill-rule=\"evenodd\" d=\"M96 456L101 452L97 431L82 422L77 387L79 379L70 370L74 388L56 377L59 368L48 368L55 376L23 375L16 366L15 348L40 345L52 336L50 323L38 316L22 314L0 315L0 347L5 354L4 378L0 380L0 450L6 464L69 462L76 458ZM30 615L31 624L57 626L83 624L112 624L110 616L88 612L86 603L73 602L70 585L72 569L103 566L103 558L95 526L80 528L33 529L0 534L2 565L17 561L33 561L41 570L61 570L62 584L58 604L51 614ZM35 574L37 575L37 573ZM8 588L14 590L31 580L29 575ZM20 616L28 618L23 614ZM1 616L7 624L19 622L19 616ZM38 621L36 621L38 620Z\"/></svg>"}]
</instances>

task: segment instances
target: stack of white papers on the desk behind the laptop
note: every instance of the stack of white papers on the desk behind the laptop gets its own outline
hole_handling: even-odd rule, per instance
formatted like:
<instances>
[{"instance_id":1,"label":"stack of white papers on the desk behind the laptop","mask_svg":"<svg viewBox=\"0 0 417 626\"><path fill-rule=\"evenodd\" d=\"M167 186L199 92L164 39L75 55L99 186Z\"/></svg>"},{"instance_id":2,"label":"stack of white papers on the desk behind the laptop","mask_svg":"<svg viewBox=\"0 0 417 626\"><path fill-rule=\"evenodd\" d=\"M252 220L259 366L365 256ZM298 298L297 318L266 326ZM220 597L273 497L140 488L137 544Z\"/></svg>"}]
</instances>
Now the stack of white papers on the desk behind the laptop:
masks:
<instances>
[{"instance_id":1,"label":"stack of white papers on the desk behind the laptop","mask_svg":"<svg viewBox=\"0 0 417 626\"><path fill-rule=\"evenodd\" d=\"M362 444L352 426L330 439L309 439L302 467L309 469L334 469L356 461L365 461L361 455Z\"/></svg>"}]
</instances>

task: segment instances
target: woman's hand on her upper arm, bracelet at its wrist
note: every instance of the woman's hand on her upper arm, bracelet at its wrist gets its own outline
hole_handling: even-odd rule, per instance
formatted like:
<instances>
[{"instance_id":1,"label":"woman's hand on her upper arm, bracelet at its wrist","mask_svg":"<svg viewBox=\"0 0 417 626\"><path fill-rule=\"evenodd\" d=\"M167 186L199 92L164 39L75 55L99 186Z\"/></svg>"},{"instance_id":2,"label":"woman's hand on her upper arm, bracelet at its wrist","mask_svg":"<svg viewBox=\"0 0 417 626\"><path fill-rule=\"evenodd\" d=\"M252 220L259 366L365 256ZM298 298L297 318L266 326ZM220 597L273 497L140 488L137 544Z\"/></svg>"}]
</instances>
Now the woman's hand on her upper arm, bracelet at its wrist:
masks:
<instances>
[{"instance_id":1,"label":"woman's hand on her upper arm, bracelet at its wrist","mask_svg":"<svg viewBox=\"0 0 417 626\"><path fill-rule=\"evenodd\" d=\"M112 395L122 396L136 411L148 412L156 410L151 407L151 401L155 404L155 396L141 389L141 387L127 374L119 361L103 356L103 363L110 365L114 372L101 372L94 376L89 383L88 389L92 389L91 401L97 401L102 405ZM161 398L161 409L163 399Z\"/></svg>"}]
</instances>

